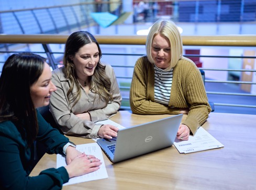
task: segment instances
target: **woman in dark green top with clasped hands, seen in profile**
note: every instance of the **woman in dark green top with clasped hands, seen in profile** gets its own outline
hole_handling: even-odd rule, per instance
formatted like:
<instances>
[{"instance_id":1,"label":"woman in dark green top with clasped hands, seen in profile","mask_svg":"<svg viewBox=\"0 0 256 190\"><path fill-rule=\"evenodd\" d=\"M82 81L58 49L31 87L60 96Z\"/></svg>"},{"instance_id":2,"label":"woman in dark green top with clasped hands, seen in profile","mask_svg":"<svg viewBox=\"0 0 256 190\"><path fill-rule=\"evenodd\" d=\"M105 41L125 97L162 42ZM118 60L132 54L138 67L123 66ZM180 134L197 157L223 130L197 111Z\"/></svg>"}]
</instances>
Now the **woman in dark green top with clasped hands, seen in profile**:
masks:
<instances>
[{"instance_id":1,"label":"woman in dark green top with clasped hands, seen in profile","mask_svg":"<svg viewBox=\"0 0 256 190\"><path fill-rule=\"evenodd\" d=\"M49 104L56 87L50 66L32 53L11 55L0 78L0 189L61 189L71 177L99 169L101 162L75 149L37 111ZM47 153L66 155L65 167L29 174L38 162L37 144Z\"/></svg>"}]
</instances>

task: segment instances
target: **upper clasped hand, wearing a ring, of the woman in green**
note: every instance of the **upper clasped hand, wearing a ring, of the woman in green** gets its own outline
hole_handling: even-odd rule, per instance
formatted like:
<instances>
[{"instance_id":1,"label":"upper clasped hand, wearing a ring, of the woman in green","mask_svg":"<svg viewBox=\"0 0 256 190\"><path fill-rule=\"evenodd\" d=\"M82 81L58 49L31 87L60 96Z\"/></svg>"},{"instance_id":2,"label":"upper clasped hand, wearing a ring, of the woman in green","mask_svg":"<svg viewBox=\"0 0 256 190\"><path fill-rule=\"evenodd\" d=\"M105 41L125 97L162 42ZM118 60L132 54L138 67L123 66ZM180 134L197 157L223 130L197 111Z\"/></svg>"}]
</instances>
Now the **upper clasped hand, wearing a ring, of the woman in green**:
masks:
<instances>
[{"instance_id":1,"label":"upper clasped hand, wearing a ring, of the woman in green","mask_svg":"<svg viewBox=\"0 0 256 190\"><path fill-rule=\"evenodd\" d=\"M101 164L101 160L95 158L93 155L85 155L85 153L82 153L66 165L65 169L71 178L94 172L100 168L99 166Z\"/></svg>"}]
</instances>

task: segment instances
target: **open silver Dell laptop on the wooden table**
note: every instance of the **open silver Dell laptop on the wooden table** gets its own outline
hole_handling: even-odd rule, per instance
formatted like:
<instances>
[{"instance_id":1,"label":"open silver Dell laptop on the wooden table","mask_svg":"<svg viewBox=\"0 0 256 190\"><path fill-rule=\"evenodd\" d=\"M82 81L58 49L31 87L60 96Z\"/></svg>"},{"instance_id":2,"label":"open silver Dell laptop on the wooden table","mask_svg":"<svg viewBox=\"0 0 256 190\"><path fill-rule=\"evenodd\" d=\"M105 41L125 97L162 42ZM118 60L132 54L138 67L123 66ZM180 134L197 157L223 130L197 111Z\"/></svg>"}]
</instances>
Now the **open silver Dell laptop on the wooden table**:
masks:
<instances>
[{"instance_id":1,"label":"open silver Dell laptop on the wooden table","mask_svg":"<svg viewBox=\"0 0 256 190\"><path fill-rule=\"evenodd\" d=\"M113 163L171 147L176 138L182 114L119 129L117 138L99 138L98 145Z\"/></svg>"}]
</instances>

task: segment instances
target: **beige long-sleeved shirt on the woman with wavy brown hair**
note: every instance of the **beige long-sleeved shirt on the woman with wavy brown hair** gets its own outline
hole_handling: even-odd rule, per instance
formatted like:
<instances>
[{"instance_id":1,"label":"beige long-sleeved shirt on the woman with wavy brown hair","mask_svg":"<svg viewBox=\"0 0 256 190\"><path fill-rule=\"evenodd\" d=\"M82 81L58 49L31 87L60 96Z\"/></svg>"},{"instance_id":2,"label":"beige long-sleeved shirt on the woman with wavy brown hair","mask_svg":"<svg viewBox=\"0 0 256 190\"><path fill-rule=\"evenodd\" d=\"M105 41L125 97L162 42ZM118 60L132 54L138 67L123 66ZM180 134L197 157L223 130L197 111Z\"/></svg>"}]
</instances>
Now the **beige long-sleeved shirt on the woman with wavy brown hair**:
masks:
<instances>
[{"instance_id":1,"label":"beige long-sleeved shirt on the woman with wavy brown hair","mask_svg":"<svg viewBox=\"0 0 256 190\"><path fill-rule=\"evenodd\" d=\"M97 138L101 124L95 124L95 122L112 117L117 113L121 105L122 98L114 69L110 65L106 65L106 74L112 83L111 93L113 94L113 101L109 101L104 108L105 102L99 99L96 93L90 90L87 94L81 86L82 96L79 102L72 108L73 104L68 102L68 97L66 96L70 89L70 81L64 76L63 68L55 69L52 72L52 82L57 87L57 90L52 92L50 98L50 111L54 120L66 135ZM76 91L77 89L74 88L72 93ZM92 121L82 120L75 116L75 114L84 112L90 113Z\"/></svg>"}]
</instances>

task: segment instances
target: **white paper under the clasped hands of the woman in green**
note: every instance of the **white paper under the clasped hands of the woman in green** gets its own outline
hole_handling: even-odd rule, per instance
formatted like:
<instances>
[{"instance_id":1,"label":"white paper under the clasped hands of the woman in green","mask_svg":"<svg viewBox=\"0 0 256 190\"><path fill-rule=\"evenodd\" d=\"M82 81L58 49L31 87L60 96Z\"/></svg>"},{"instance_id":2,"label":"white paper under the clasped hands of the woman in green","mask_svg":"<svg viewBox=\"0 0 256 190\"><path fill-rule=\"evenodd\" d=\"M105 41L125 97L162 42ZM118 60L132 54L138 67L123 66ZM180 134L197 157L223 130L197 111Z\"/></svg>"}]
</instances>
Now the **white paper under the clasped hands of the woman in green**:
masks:
<instances>
[{"instance_id":1,"label":"white paper under the clasped hands of the woman in green","mask_svg":"<svg viewBox=\"0 0 256 190\"><path fill-rule=\"evenodd\" d=\"M104 163L104 158L102 155L101 147L98 146L96 142L89 143L89 144L83 144L83 145L76 145L76 149L80 152L85 152L86 155L94 155L96 158L101 160L101 168L99 168L97 171L92 173L87 173L85 175L81 175L78 177L72 177L68 183L65 183L63 185L71 185L75 183L81 183L81 182L87 182L87 181L93 181L93 180L101 180L108 178L106 166ZM65 157L58 154L57 155L57 168L64 167L66 165Z\"/></svg>"}]
</instances>

